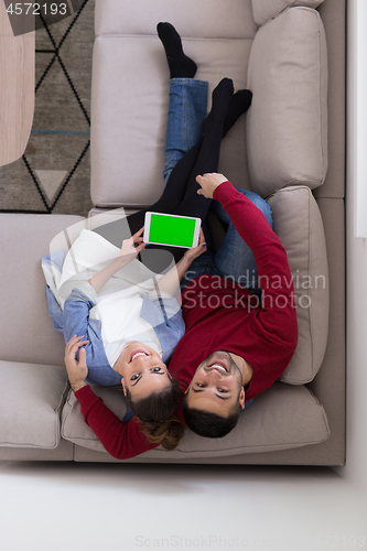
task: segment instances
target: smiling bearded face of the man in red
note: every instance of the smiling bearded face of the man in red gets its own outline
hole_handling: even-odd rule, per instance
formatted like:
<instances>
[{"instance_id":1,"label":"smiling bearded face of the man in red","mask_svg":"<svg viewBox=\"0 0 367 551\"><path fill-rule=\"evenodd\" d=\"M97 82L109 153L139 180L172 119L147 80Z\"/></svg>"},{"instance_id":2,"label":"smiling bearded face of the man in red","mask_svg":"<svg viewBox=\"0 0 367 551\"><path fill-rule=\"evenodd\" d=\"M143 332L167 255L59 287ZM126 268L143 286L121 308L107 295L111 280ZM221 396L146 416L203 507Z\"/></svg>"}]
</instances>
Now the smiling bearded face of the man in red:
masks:
<instances>
[{"instance_id":1,"label":"smiling bearded face of the man in red","mask_svg":"<svg viewBox=\"0 0 367 551\"><path fill-rule=\"evenodd\" d=\"M218 350L196 369L186 390L188 408L227 418L236 404L245 408L242 375L229 353Z\"/></svg>"}]
</instances>

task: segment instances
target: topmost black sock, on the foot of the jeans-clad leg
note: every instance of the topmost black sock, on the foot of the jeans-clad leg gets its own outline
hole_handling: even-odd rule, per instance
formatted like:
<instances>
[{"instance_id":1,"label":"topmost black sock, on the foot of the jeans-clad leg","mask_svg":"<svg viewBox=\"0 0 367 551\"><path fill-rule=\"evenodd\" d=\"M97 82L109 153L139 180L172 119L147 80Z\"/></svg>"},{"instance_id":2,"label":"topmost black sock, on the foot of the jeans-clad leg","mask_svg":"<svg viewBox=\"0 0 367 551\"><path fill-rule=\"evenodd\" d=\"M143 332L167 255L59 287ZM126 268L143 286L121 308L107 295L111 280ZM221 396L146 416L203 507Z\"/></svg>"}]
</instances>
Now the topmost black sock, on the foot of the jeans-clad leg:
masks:
<instances>
[{"instance_id":1,"label":"topmost black sock, on the foot of the jeans-clad leg","mask_svg":"<svg viewBox=\"0 0 367 551\"><path fill-rule=\"evenodd\" d=\"M163 44L171 78L194 78L197 66L182 50L181 36L171 23L158 23L158 35Z\"/></svg>"}]
</instances>

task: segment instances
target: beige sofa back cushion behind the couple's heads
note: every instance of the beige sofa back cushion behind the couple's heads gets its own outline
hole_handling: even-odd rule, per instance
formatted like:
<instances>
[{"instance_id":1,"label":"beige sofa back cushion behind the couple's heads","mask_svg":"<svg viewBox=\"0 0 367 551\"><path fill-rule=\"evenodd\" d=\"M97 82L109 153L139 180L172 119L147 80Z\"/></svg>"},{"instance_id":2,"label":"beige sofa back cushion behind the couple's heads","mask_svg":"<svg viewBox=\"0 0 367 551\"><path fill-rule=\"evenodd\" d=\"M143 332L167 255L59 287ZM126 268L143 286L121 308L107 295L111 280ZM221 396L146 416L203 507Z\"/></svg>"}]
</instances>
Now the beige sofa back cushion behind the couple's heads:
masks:
<instances>
[{"instance_id":1,"label":"beige sofa back cushion behind the couple's heads","mask_svg":"<svg viewBox=\"0 0 367 551\"><path fill-rule=\"evenodd\" d=\"M123 418L126 403L120 390L95 386L93 390L119 419ZM68 396L62 419L64 439L83 447L106 452L84 422L74 392ZM182 460L239 455L317 444L328 436L325 411L310 390L276 382L240 414L237 426L225 437L204 439L186 429L179 447L173 452L166 452L159 446L142 456L154 461L168 457Z\"/></svg>"}]
</instances>

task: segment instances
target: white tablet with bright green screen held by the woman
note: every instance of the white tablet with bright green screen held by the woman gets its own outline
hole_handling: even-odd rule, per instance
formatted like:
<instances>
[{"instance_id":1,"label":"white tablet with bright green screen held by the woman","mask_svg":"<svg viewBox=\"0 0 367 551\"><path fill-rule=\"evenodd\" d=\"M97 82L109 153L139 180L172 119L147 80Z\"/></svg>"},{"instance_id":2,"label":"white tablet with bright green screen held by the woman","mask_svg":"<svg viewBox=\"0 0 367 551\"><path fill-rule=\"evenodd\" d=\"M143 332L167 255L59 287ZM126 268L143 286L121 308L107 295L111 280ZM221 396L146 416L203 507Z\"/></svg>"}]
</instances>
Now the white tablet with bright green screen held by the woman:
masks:
<instances>
[{"instance_id":1,"label":"white tablet with bright green screen held by the woman","mask_svg":"<svg viewBox=\"0 0 367 551\"><path fill-rule=\"evenodd\" d=\"M172 247L197 247L201 225L201 218L148 212L144 241Z\"/></svg>"}]
</instances>

